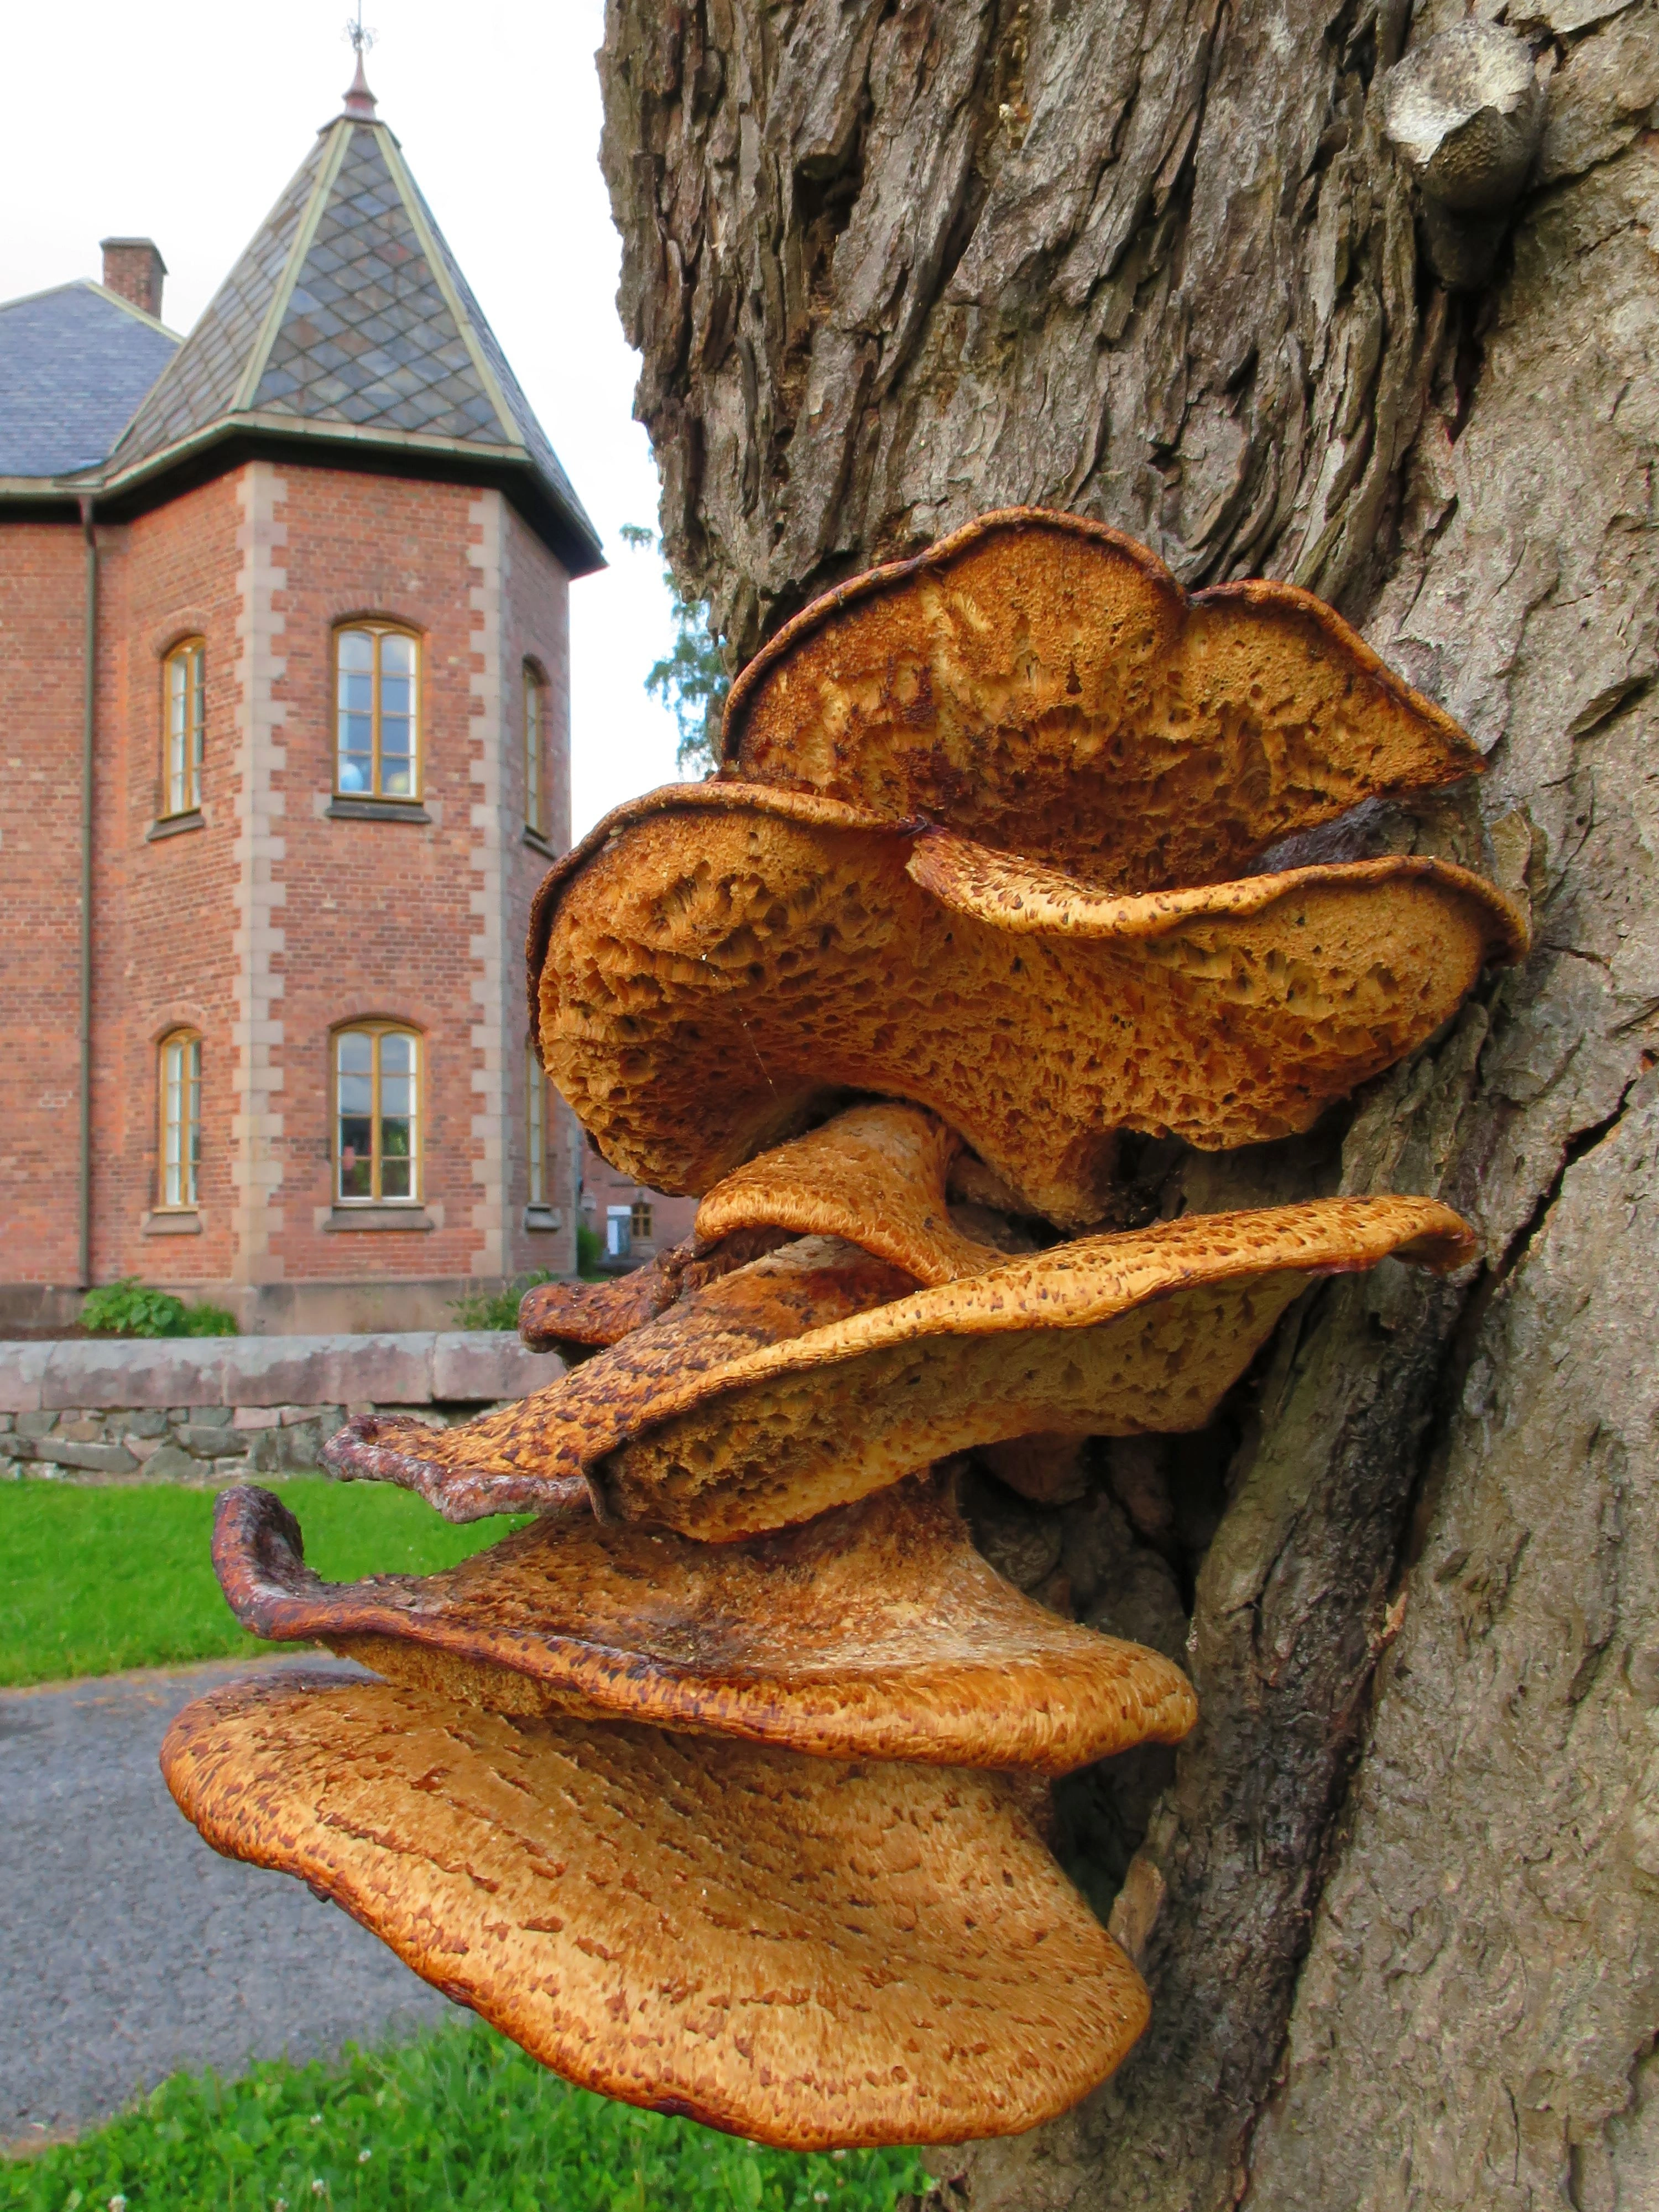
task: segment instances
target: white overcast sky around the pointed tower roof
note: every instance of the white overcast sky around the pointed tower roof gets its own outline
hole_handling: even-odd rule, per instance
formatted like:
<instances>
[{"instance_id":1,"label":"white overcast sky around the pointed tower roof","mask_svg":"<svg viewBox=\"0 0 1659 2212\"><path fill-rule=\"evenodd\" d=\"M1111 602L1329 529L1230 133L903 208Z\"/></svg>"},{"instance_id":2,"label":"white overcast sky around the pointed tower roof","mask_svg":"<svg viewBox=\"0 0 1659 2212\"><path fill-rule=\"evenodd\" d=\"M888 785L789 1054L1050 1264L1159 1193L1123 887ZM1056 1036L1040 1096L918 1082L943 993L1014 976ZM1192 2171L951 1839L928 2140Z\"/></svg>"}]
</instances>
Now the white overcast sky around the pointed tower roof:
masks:
<instances>
[{"instance_id":1,"label":"white overcast sky around the pointed tower roof","mask_svg":"<svg viewBox=\"0 0 1659 2212\"><path fill-rule=\"evenodd\" d=\"M0 299L97 276L97 241L150 237L164 319L188 330L352 77L345 0L226 7L80 0L4 9ZM365 0L369 84L478 303L604 538L571 588L573 801L599 814L675 774L675 726L644 692L670 639L617 323L619 241L599 177L593 51L604 0ZM22 95L22 88L27 97Z\"/></svg>"}]
</instances>

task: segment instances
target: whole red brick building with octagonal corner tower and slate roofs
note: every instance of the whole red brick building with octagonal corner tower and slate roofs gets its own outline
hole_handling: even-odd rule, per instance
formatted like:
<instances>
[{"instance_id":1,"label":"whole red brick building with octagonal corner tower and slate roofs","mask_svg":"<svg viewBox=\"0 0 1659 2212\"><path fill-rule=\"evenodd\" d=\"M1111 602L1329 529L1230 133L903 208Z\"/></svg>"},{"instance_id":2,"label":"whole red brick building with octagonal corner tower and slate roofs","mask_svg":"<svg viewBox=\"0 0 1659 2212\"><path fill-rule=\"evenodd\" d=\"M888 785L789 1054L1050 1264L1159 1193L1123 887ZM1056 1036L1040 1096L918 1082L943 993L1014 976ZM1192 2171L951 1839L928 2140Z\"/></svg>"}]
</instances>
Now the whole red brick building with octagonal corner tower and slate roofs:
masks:
<instances>
[{"instance_id":1,"label":"whole red brick building with octagonal corner tower and slate roofs","mask_svg":"<svg viewBox=\"0 0 1659 2212\"><path fill-rule=\"evenodd\" d=\"M431 1327L573 1265L526 1051L599 542L363 71L181 343L0 307L0 1316Z\"/></svg>"}]
</instances>

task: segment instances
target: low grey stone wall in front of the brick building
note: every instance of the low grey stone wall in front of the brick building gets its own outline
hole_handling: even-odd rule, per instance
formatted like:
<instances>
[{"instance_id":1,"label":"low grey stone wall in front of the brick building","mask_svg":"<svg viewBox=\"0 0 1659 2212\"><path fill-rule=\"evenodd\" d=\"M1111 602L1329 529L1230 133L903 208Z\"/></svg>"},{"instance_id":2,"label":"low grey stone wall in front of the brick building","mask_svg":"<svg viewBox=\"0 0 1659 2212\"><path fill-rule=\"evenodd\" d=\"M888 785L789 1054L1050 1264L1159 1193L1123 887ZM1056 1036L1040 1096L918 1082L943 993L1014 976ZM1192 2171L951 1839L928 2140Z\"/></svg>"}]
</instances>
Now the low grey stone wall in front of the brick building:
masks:
<instances>
[{"instance_id":1,"label":"low grey stone wall in front of the brick building","mask_svg":"<svg viewBox=\"0 0 1659 2212\"><path fill-rule=\"evenodd\" d=\"M467 1420L562 1371L507 1329L0 1343L0 1478L294 1473L352 1413Z\"/></svg>"}]
</instances>

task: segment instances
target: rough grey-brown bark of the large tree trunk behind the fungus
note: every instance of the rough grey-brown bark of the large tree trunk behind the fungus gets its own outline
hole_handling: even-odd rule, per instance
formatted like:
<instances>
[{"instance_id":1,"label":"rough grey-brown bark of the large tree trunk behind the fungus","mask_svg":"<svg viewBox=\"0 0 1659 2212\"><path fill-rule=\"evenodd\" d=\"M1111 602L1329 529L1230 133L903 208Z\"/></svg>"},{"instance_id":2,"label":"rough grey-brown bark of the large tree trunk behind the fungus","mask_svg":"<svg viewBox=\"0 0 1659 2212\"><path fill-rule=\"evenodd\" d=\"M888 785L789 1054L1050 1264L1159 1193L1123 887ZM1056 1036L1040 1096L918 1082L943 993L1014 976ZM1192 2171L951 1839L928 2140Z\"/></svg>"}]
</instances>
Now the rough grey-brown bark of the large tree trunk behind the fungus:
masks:
<instances>
[{"instance_id":1,"label":"rough grey-brown bark of the large tree trunk behind the fungus","mask_svg":"<svg viewBox=\"0 0 1659 2212\"><path fill-rule=\"evenodd\" d=\"M1491 763L1338 849L1471 858L1537 929L1338 1126L1144 1148L1166 1212L1433 1192L1484 1263L1310 1296L1212 1433L1002 1531L1091 1619L1188 1606L1203 1723L1066 1801L1093 1893L1139 1845L1152 2031L942 2205L1659 2203L1659 0L1509 9L1544 146L1449 296L1380 75L1460 15L608 4L637 411L734 666L1011 502L1292 577Z\"/></svg>"}]
</instances>

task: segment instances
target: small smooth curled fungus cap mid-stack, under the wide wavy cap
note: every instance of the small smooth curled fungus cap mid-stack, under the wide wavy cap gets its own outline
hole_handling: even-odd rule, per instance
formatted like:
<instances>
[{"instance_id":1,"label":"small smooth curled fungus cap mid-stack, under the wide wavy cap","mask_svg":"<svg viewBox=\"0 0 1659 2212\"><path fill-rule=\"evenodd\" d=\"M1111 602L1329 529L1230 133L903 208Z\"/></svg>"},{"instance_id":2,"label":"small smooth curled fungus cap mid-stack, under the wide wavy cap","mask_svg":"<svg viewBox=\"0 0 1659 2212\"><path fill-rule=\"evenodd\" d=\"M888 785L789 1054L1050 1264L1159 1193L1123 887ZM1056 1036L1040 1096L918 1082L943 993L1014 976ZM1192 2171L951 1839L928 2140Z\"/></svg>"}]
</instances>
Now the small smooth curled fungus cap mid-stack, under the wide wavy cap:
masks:
<instances>
[{"instance_id":1,"label":"small smooth curled fungus cap mid-stack, under the wide wavy cap","mask_svg":"<svg viewBox=\"0 0 1659 2212\"><path fill-rule=\"evenodd\" d=\"M964 1237L945 1197L960 1150L956 1130L920 1106L849 1106L714 1183L697 1208L697 1248L785 1228L796 1237L845 1237L918 1283L984 1274L1002 1252Z\"/></svg>"}]
</instances>

